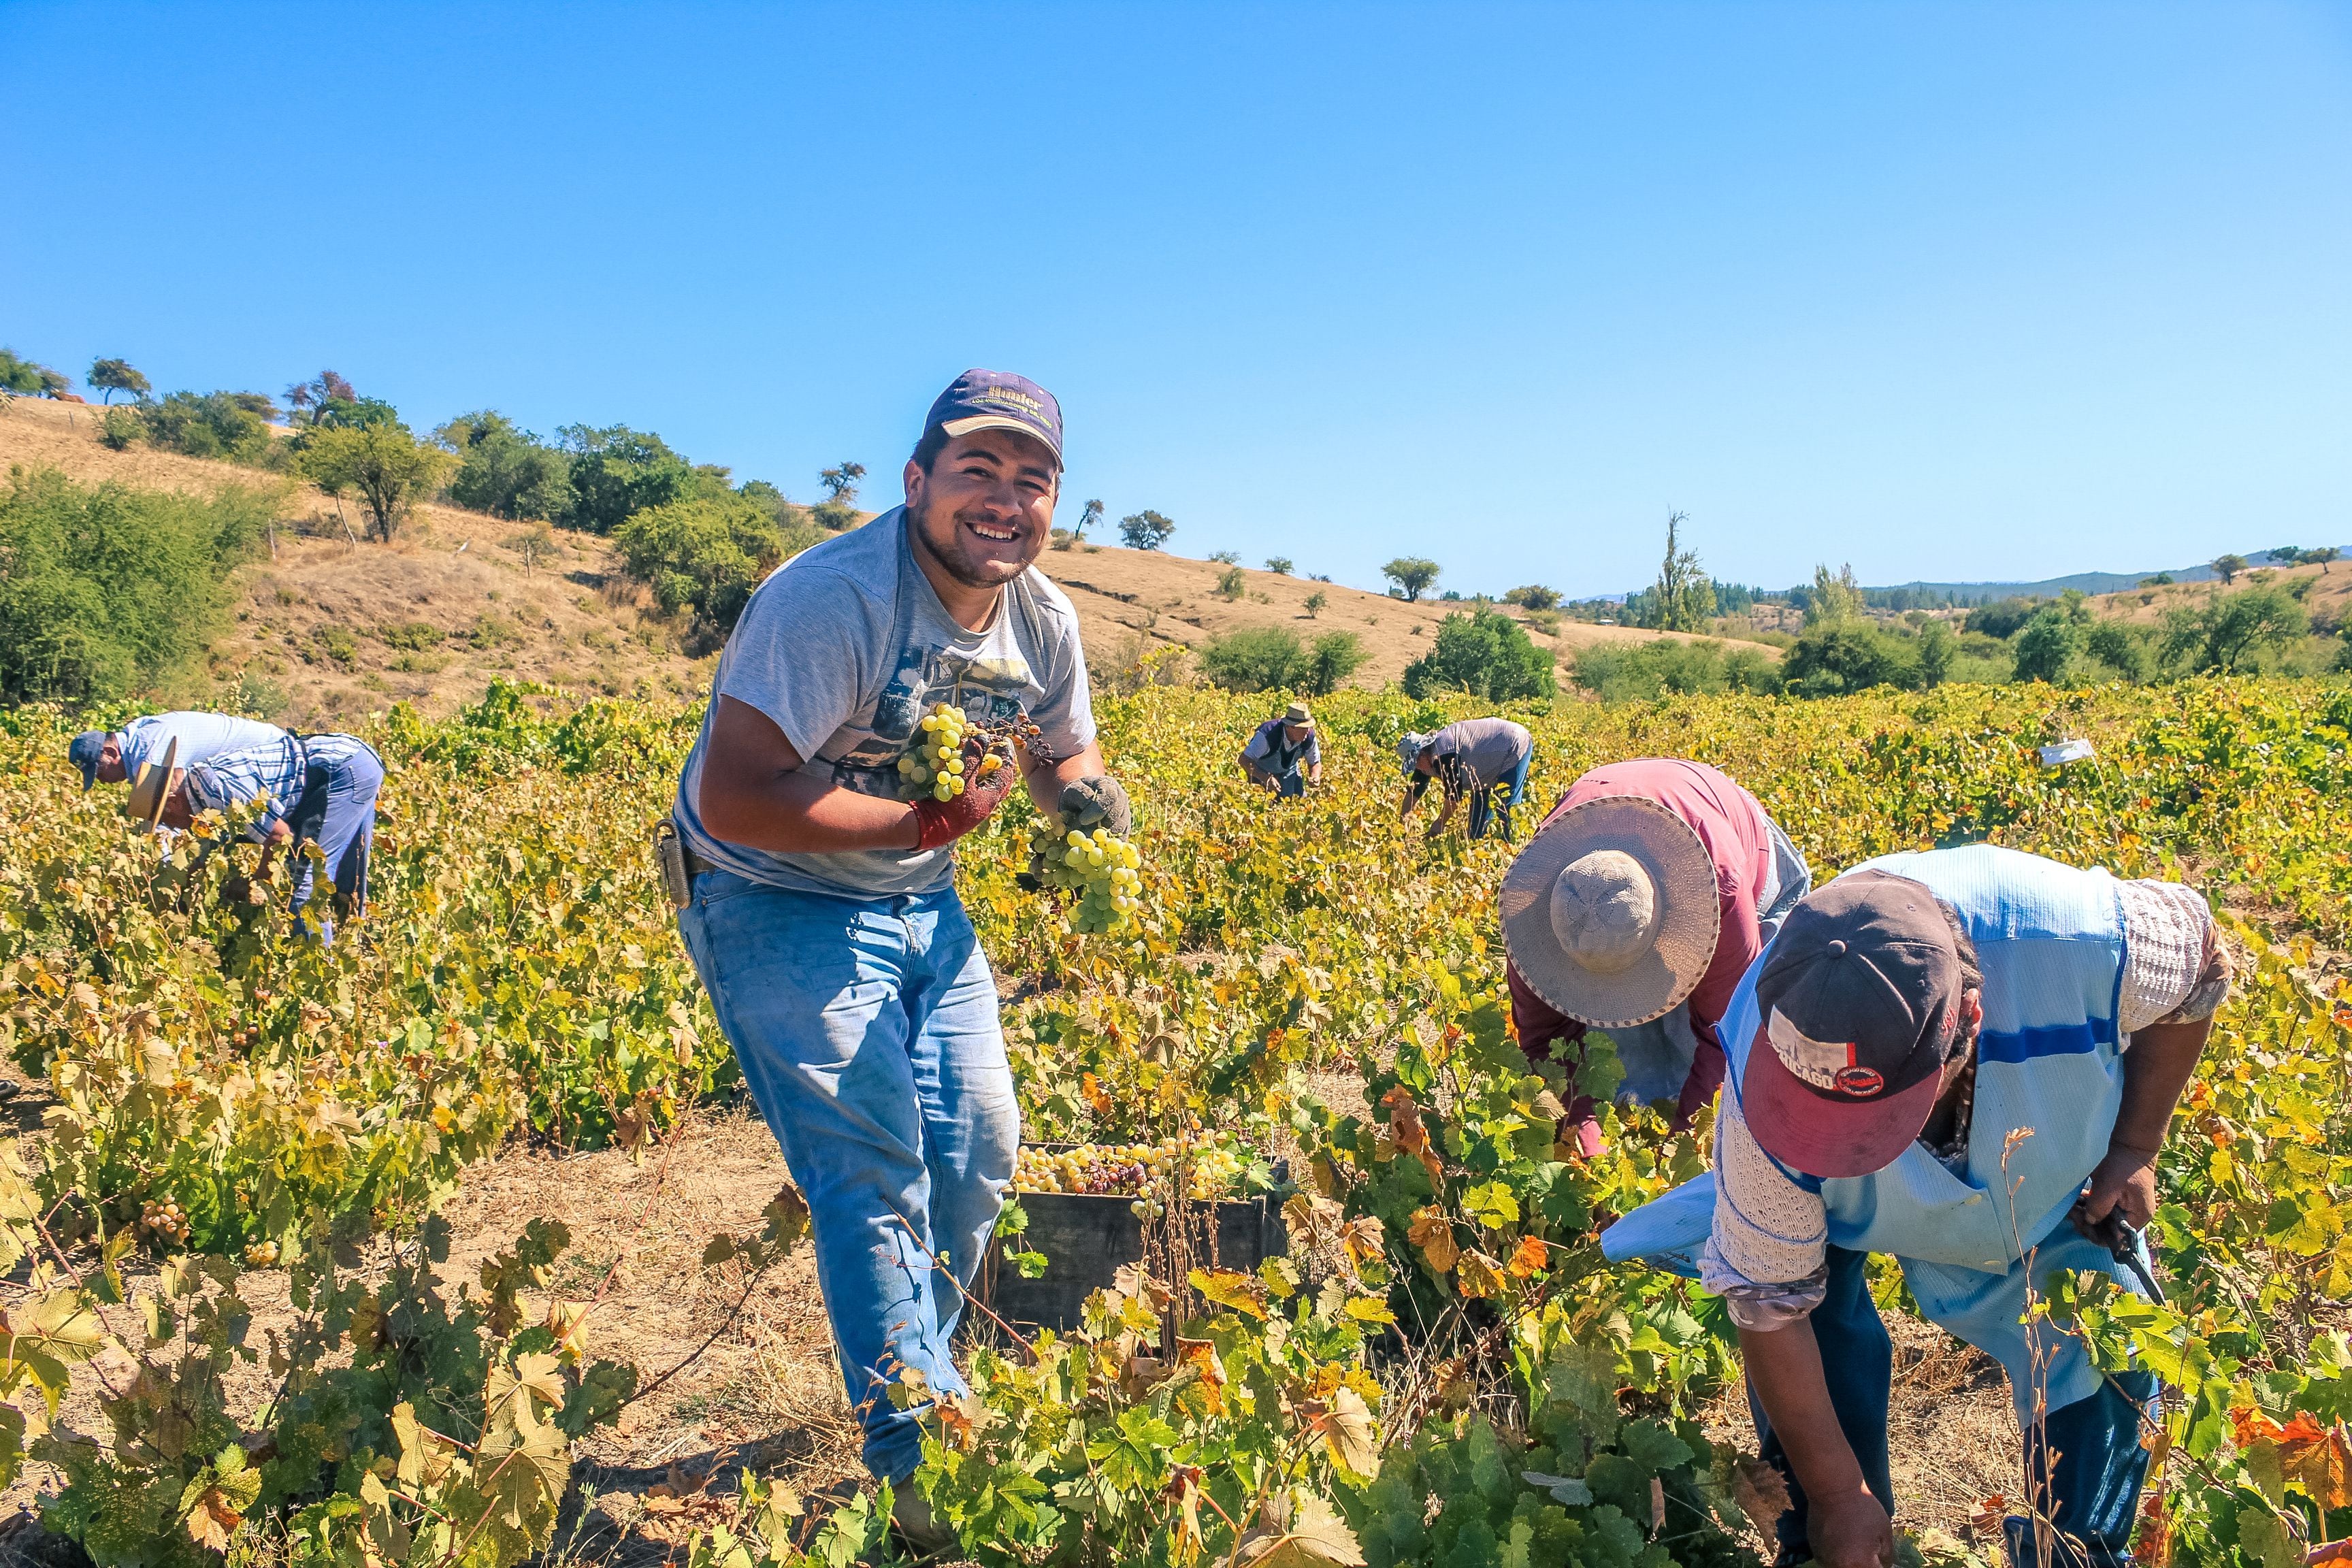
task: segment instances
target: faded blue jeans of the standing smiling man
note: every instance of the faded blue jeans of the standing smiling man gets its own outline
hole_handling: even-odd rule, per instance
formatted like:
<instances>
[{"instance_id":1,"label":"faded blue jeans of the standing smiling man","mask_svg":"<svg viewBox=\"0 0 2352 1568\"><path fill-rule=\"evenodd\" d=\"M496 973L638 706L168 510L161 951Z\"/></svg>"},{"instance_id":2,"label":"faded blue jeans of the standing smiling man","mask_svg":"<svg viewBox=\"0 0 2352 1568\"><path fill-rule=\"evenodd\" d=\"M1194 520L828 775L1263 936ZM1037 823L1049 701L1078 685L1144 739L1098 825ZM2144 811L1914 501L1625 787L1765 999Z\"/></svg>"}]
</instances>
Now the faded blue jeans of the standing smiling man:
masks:
<instances>
[{"instance_id":1,"label":"faded blue jeans of the standing smiling man","mask_svg":"<svg viewBox=\"0 0 2352 1568\"><path fill-rule=\"evenodd\" d=\"M889 1385L910 1366L964 1389L948 1338L1021 1147L988 957L955 889L828 898L713 870L677 929L809 1199L866 1467L906 1481L920 1410Z\"/></svg>"}]
</instances>

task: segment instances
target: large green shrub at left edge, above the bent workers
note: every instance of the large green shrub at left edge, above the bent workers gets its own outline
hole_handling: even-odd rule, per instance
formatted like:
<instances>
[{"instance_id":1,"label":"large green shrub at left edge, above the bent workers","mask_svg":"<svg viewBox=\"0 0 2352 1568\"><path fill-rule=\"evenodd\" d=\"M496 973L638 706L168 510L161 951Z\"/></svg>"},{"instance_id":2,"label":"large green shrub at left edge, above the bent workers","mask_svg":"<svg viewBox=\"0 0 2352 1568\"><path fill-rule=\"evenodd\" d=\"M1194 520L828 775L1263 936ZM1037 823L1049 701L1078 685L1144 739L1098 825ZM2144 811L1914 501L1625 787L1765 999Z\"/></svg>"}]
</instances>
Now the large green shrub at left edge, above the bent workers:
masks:
<instances>
[{"instance_id":1,"label":"large green shrub at left edge, above the bent workers","mask_svg":"<svg viewBox=\"0 0 2352 1568\"><path fill-rule=\"evenodd\" d=\"M0 491L0 701L101 701L155 689L205 651L228 571L275 496L82 487L54 468Z\"/></svg>"}]
</instances>

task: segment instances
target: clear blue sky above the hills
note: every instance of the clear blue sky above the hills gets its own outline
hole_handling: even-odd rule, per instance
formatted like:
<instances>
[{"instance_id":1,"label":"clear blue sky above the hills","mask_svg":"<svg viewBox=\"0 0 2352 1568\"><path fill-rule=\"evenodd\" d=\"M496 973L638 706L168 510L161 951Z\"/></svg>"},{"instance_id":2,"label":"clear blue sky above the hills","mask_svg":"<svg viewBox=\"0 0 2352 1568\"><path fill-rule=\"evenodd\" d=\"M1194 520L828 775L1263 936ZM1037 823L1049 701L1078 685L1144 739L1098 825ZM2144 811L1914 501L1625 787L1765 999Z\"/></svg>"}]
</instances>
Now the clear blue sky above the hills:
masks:
<instances>
[{"instance_id":1,"label":"clear blue sky above the hills","mask_svg":"<svg viewBox=\"0 0 2352 1568\"><path fill-rule=\"evenodd\" d=\"M0 343L1378 585L2352 543L2352 9L0 2Z\"/></svg>"}]
</instances>

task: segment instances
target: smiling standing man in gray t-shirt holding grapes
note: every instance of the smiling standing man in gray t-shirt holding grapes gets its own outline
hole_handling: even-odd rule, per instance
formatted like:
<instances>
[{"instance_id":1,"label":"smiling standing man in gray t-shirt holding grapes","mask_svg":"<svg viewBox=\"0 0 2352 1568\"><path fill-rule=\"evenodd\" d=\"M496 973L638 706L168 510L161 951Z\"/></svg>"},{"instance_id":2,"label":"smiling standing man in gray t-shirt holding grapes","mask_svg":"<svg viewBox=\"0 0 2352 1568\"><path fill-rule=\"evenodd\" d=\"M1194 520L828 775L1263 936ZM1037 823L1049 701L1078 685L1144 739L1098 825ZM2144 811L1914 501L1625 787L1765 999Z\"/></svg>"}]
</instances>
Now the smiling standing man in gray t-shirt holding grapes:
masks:
<instances>
[{"instance_id":1,"label":"smiling standing man in gray t-shirt holding grapes","mask_svg":"<svg viewBox=\"0 0 2352 1568\"><path fill-rule=\"evenodd\" d=\"M906 505L804 550L753 595L677 780L666 867L687 952L809 1199L816 1276L866 1465L906 1481L913 1368L962 1392L948 1340L1014 1175L1021 1112L997 987L950 846L1011 792L901 799L898 759L938 703L1028 715L1030 799L1134 830L1103 776L1070 599L1035 571L1061 496L1061 409L1021 376L938 395ZM971 743L967 743L971 745ZM934 1260L946 1260L936 1267ZM898 1490L917 1544L941 1537Z\"/></svg>"}]
</instances>

